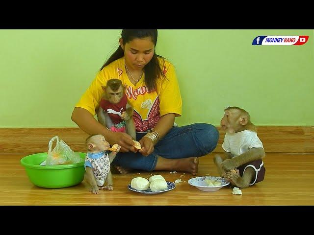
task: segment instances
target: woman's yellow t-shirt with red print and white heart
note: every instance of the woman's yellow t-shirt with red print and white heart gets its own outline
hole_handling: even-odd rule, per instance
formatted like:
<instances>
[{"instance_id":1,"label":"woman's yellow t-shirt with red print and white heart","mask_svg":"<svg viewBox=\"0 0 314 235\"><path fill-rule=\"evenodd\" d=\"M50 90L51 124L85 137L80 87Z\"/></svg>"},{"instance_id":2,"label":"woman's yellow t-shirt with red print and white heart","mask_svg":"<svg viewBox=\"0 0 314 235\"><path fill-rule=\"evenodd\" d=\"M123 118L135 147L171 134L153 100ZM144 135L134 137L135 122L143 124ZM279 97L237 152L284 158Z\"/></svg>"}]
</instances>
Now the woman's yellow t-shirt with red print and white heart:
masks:
<instances>
[{"instance_id":1,"label":"woman's yellow t-shirt with red print and white heart","mask_svg":"<svg viewBox=\"0 0 314 235\"><path fill-rule=\"evenodd\" d=\"M159 59L160 63L162 60ZM133 119L136 131L142 132L154 128L159 118L165 114L174 113L176 117L182 114L182 98L177 76L173 65L165 61L160 64L165 78L157 79L157 91L148 93L145 86L145 72L134 86L126 73L124 57L111 62L102 71L99 71L87 89L81 96L75 107L88 110L92 115L96 114L102 98L102 86L107 80L116 78L127 85L126 94L129 103L133 106Z\"/></svg>"}]
</instances>

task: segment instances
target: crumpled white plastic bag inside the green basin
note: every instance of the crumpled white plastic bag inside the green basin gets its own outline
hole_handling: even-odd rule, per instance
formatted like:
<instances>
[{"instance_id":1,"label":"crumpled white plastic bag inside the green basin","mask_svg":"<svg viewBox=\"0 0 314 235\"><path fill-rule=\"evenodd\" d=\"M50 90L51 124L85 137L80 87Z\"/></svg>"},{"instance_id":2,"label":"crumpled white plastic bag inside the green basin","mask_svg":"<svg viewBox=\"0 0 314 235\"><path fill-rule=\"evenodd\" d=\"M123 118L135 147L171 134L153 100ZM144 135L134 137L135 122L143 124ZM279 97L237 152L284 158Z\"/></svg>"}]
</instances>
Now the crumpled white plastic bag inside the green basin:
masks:
<instances>
[{"instance_id":1,"label":"crumpled white plastic bag inside the green basin","mask_svg":"<svg viewBox=\"0 0 314 235\"><path fill-rule=\"evenodd\" d=\"M56 145L52 150L54 140L56 140ZM73 152L64 141L59 141L59 137L52 137L49 141L46 165L74 164L83 161L84 159L79 156L79 153Z\"/></svg>"}]
</instances>

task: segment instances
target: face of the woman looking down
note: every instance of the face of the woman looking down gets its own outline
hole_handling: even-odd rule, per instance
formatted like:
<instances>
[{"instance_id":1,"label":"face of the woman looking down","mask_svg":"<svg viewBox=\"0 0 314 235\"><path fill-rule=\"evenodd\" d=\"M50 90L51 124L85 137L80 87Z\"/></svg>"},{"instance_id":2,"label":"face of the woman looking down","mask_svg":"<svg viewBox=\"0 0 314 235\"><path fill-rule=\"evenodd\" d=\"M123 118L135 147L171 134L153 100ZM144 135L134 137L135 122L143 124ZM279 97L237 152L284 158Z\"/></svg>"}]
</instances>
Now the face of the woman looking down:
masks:
<instances>
[{"instance_id":1,"label":"face of the woman looking down","mask_svg":"<svg viewBox=\"0 0 314 235\"><path fill-rule=\"evenodd\" d=\"M121 43L120 43L121 45ZM135 38L125 45L121 45L127 66L132 70L142 70L153 58L155 46L150 37Z\"/></svg>"}]
</instances>

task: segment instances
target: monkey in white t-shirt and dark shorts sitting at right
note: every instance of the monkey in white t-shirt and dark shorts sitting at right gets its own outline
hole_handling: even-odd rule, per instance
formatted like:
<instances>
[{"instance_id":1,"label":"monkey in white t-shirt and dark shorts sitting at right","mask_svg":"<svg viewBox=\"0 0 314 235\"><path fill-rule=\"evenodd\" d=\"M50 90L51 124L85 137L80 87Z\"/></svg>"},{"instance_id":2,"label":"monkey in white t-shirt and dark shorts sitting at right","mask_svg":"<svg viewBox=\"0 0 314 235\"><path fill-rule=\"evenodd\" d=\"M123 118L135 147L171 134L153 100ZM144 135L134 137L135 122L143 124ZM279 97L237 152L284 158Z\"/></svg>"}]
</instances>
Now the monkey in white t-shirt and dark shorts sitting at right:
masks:
<instances>
[{"instance_id":1,"label":"monkey in white t-shirt and dark shorts sitting at right","mask_svg":"<svg viewBox=\"0 0 314 235\"><path fill-rule=\"evenodd\" d=\"M226 132L222 143L224 157L214 157L220 176L239 188L261 182L265 175L262 162L265 152L249 113L239 107L228 107L220 125Z\"/></svg>"}]
</instances>

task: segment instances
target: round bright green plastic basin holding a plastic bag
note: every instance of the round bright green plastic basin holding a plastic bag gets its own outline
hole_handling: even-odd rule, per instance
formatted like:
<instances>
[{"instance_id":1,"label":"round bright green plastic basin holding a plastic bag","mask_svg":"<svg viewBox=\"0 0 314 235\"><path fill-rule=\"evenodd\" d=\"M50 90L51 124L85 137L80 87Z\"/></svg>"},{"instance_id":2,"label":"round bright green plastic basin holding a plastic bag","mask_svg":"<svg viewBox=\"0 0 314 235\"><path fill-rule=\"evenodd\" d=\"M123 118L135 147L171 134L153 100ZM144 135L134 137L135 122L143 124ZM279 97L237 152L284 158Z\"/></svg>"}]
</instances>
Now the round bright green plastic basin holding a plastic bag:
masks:
<instances>
[{"instance_id":1,"label":"round bright green plastic basin holding a plastic bag","mask_svg":"<svg viewBox=\"0 0 314 235\"><path fill-rule=\"evenodd\" d=\"M85 153L79 153L84 159ZM84 179L84 162L65 165L40 165L47 153L36 153L21 159L21 165L34 185L42 188L65 188L78 185Z\"/></svg>"}]
</instances>

